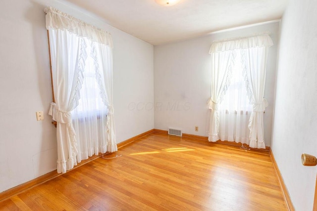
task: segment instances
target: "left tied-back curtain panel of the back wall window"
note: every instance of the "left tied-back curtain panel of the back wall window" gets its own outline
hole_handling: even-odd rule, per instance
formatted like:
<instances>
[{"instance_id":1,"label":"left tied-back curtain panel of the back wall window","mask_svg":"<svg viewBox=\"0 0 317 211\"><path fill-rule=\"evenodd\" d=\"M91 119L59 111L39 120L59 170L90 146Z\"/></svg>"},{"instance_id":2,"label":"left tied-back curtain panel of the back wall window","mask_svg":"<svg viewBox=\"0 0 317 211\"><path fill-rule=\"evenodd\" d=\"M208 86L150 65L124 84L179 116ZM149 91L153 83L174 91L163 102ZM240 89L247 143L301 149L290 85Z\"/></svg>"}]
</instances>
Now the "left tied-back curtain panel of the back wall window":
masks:
<instances>
[{"instance_id":1,"label":"left tied-back curtain panel of the back wall window","mask_svg":"<svg viewBox=\"0 0 317 211\"><path fill-rule=\"evenodd\" d=\"M211 53L211 109L209 141L219 140L219 103L221 102L231 79L234 51L216 51Z\"/></svg>"}]
</instances>

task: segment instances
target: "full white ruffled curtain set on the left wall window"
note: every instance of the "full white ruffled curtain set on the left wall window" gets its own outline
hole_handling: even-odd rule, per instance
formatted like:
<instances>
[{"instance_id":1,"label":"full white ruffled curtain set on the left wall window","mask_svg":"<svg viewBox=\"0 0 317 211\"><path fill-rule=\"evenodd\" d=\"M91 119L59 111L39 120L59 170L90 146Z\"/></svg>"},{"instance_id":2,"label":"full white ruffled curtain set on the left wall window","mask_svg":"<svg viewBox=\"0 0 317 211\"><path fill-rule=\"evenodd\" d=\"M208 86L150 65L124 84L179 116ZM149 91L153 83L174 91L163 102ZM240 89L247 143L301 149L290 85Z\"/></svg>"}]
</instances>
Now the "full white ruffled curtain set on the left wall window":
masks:
<instances>
[{"instance_id":1,"label":"full white ruffled curtain set on the left wall window","mask_svg":"<svg viewBox=\"0 0 317 211\"><path fill-rule=\"evenodd\" d=\"M45 11L55 97L50 115L57 122L57 172L64 173L88 156L117 150L114 124L107 124L113 120L112 88L106 95L106 83L112 85L112 51L95 47L111 49L112 41L108 33L52 7Z\"/></svg>"}]
</instances>

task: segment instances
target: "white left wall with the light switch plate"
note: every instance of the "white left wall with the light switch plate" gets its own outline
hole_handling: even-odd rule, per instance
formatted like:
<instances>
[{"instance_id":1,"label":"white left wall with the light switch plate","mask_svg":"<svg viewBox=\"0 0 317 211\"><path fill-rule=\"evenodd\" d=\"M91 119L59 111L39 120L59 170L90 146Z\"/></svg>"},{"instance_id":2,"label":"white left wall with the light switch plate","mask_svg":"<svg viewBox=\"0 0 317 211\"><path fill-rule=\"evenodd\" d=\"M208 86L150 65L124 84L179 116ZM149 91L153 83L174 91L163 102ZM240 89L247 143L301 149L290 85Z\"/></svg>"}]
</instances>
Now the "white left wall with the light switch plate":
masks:
<instances>
[{"instance_id":1,"label":"white left wall with the light switch plate","mask_svg":"<svg viewBox=\"0 0 317 211\"><path fill-rule=\"evenodd\" d=\"M117 142L154 128L153 110L128 107L153 104L153 45L62 0L0 3L0 192L56 169L56 129L47 114L52 101L47 5L111 33ZM36 111L44 111L44 121L36 121Z\"/></svg>"}]
</instances>

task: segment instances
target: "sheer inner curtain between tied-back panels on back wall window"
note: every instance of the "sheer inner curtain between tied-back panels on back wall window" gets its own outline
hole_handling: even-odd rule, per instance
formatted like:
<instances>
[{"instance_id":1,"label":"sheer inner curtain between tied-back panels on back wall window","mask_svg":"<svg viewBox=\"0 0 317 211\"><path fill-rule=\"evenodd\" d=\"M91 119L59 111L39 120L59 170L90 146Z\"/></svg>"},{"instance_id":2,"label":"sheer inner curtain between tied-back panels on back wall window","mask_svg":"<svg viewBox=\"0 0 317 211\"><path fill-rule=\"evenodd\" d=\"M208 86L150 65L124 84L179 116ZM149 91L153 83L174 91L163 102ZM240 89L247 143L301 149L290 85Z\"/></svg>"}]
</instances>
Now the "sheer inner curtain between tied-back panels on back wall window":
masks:
<instances>
[{"instance_id":1,"label":"sheer inner curtain between tied-back panels on back wall window","mask_svg":"<svg viewBox=\"0 0 317 211\"><path fill-rule=\"evenodd\" d=\"M252 105L249 103L243 65L239 50L232 68L231 83L219 106L219 138L249 144L249 119Z\"/></svg>"}]
</instances>

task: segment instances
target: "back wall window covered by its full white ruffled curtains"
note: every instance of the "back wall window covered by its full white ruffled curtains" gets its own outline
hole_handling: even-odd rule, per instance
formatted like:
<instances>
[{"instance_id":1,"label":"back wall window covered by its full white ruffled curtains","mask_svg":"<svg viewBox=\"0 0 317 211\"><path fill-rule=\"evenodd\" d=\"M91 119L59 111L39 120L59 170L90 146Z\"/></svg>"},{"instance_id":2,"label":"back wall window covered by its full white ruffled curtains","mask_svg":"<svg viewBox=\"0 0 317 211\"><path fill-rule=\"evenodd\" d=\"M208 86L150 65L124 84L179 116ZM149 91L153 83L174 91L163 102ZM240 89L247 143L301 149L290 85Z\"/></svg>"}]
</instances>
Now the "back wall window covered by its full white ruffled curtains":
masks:
<instances>
[{"instance_id":1,"label":"back wall window covered by its full white ruffled curtains","mask_svg":"<svg viewBox=\"0 0 317 211\"><path fill-rule=\"evenodd\" d=\"M272 45L269 33L212 42L209 51L211 54L209 141L219 140L221 130L223 137L220 140L235 140L250 143L249 146L253 148L265 148L263 113L268 103L264 98L264 87L268 48ZM239 61L241 61L240 66L233 66L239 64ZM243 65L242 69L241 65ZM244 130L249 115L248 101L244 97L246 91L243 91L241 78L237 78L241 75L241 71L247 95L252 103L248 139ZM232 86L230 74L233 74ZM227 90L229 86L231 87ZM224 102L221 104L224 96Z\"/></svg>"}]
</instances>

